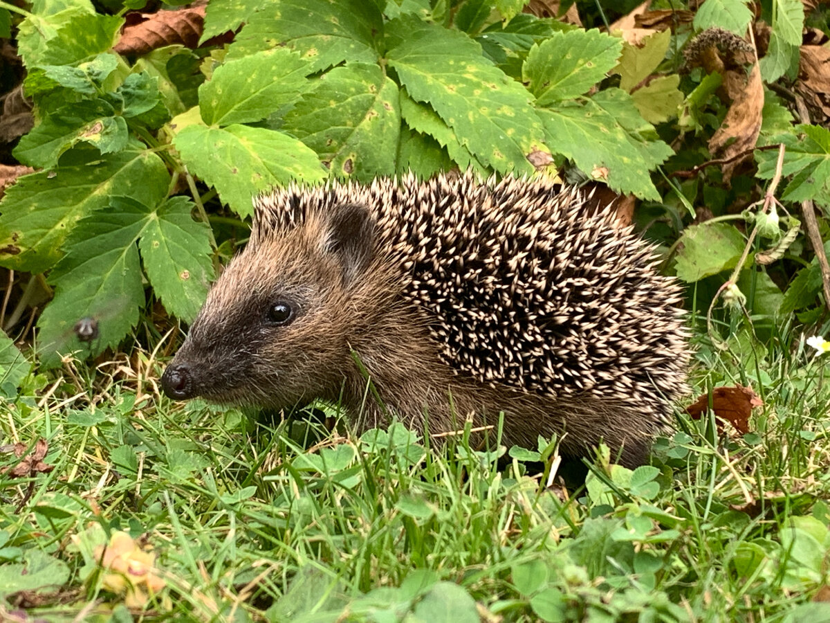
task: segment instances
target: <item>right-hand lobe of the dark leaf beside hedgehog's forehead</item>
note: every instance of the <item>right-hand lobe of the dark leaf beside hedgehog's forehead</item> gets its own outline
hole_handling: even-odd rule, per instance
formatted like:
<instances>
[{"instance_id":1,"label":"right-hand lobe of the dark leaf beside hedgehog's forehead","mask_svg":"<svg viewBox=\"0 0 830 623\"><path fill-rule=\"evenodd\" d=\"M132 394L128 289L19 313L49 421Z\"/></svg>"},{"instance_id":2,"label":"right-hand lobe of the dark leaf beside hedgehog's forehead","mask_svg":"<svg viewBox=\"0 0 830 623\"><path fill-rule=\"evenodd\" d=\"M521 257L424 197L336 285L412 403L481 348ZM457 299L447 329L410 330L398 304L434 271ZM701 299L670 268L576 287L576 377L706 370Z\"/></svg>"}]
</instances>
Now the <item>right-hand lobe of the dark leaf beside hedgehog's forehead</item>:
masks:
<instances>
[{"instance_id":1,"label":"right-hand lobe of the dark leaf beside hedgehog's forehead","mask_svg":"<svg viewBox=\"0 0 830 623\"><path fill-rule=\"evenodd\" d=\"M139 240L144 270L164 308L191 322L213 278L210 228L193 220L193 203L172 197L149 218Z\"/></svg>"}]
</instances>

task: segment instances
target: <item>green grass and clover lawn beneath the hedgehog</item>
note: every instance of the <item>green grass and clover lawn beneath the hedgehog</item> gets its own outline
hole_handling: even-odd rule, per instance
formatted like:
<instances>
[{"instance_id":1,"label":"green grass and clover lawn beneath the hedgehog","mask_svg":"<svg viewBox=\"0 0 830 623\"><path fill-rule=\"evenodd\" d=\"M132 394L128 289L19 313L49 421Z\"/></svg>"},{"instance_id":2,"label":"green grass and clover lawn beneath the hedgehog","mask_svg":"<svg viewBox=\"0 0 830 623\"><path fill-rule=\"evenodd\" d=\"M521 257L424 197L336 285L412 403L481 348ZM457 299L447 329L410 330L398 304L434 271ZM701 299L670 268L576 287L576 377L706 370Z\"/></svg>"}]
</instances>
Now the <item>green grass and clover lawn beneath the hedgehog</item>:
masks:
<instances>
[{"instance_id":1,"label":"green grass and clover lawn beneath the hedgehog","mask_svg":"<svg viewBox=\"0 0 830 623\"><path fill-rule=\"evenodd\" d=\"M54 469L0 474L0 620L830 621L828 373L800 334L767 341L698 350L697 393L762 396L749 434L680 415L652 465L599 456L565 485L547 439L432 448L173 404L142 353L31 376L3 443L46 439ZM107 542L160 590L125 591Z\"/></svg>"}]
</instances>

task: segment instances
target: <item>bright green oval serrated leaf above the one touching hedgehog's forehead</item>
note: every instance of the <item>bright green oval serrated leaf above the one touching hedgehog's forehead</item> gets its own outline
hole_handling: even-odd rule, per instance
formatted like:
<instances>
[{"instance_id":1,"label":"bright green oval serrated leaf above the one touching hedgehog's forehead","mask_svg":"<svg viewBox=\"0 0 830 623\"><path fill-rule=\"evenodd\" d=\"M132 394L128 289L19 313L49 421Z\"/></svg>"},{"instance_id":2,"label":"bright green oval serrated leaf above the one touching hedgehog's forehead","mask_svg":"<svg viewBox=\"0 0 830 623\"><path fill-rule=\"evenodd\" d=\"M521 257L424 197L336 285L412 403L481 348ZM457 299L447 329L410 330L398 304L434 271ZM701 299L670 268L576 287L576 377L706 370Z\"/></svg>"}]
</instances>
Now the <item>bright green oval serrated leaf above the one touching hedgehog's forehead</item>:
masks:
<instances>
[{"instance_id":1,"label":"bright green oval serrated leaf above the one touching hedgehog's forehead","mask_svg":"<svg viewBox=\"0 0 830 623\"><path fill-rule=\"evenodd\" d=\"M207 125L265 119L300 98L312 71L309 61L285 47L228 61L199 87L202 118Z\"/></svg>"}]
</instances>

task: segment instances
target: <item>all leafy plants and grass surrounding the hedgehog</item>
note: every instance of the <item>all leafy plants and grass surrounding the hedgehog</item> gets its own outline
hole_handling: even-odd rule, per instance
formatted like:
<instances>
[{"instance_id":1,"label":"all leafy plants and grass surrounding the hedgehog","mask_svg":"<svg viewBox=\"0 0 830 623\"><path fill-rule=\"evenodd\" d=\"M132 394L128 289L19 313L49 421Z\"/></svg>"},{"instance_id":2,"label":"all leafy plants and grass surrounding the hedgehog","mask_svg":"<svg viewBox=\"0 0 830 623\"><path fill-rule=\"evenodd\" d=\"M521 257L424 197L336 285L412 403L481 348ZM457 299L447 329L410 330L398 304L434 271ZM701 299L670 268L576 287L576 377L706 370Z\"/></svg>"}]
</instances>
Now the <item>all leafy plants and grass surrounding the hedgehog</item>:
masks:
<instances>
[{"instance_id":1,"label":"all leafy plants and grass surrounding the hedgehog","mask_svg":"<svg viewBox=\"0 0 830 623\"><path fill-rule=\"evenodd\" d=\"M830 621L828 36L820 0L0 2L0 619ZM702 396L651 465L159 395L252 195L467 168L615 199L687 284Z\"/></svg>"}]
</instances>

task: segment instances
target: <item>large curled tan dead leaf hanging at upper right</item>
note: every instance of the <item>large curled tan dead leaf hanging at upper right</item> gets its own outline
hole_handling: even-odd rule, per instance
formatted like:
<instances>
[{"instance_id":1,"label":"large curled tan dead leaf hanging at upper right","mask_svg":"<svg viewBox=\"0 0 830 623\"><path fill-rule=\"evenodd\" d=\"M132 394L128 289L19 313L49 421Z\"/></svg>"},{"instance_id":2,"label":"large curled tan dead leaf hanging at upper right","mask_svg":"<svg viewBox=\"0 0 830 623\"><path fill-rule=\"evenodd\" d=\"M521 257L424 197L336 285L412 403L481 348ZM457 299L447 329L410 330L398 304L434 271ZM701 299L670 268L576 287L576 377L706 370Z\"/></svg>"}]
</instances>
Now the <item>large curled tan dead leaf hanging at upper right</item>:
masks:
<instances>
[{"instance_id":1,"label":"large curled tan dead leaf hanging at upper right","mask_svg":"<svg viewBox=\"0 0 830 623\"><path fill-rule=\"evenodd\" d=\"M723 165L724 181L728 182L735 169L752 158L751 150L758 142L761 132L761 108L764 106L764 84L761 81L761 71L758 63L749 71L749 76L741 76L740 70L726 71L724 84L727 94L732 99L732 105L726 111L726 116L709 140L709 150L712 154L723 158L734 158L745 154L743 158L735 158Z\"/></svg>"}]
</instances>

